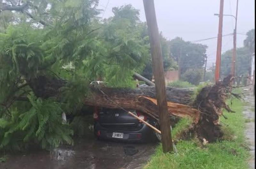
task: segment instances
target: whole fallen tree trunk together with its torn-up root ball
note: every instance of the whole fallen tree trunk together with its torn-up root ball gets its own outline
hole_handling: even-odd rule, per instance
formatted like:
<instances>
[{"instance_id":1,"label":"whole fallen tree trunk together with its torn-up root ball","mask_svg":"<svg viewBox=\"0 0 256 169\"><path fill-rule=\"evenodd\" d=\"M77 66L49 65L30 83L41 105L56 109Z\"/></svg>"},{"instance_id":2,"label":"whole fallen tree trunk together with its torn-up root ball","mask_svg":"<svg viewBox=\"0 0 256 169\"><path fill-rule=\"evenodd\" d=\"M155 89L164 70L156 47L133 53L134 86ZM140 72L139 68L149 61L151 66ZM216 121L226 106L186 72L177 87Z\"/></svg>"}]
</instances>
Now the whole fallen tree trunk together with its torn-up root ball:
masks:
<instances>
[{"instance_id":1,"label":"whole fallen tree trunk together with its torn-up root ball","mask_svg":"<svg viewBox=\"0 0 256 169\"><path fill-rule=\"evenodd\" d=\"M219 117L222 109L230 110L226 99L231 93L230 75L212 86L206 86L196 95L189 89L166 88L168 110L172 117L189 116L193 119L192 128L197 137L203 141L214 142L223 136L220 130ZM61 86L67 82L60 79L38 77L30 81L33 91L38 97L60 97ZM90 85L90 92L84 98L88 106L135 109L158 119L154 86L129 88L110 88L106 86Z\"/></svg>"}]
</instances>

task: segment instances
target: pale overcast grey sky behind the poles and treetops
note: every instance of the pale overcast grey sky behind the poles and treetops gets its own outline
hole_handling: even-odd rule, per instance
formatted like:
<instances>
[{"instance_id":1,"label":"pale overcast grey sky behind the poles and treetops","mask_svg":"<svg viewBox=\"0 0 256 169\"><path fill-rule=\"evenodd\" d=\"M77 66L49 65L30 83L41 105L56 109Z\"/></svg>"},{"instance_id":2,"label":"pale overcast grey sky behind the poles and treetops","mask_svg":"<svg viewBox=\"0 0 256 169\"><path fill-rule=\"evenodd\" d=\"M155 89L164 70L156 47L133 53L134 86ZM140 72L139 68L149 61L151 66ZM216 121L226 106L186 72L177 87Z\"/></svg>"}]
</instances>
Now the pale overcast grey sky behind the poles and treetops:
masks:
<instances>
[{"instance_id":1,"label":"pale overcast grey sky behind the poles and treetops","mask_svg":"<svg viewBox=\"0 0 256 169\"><path fill-rule=\"evenodd\" d=\"M255 27L254 0L239 0L237 33L245 34ZM143 0L100 0L99 7L105 9L103 18L113 15L112 7L132 4L140 10L140 20L146 21ZM218 16L214 13L220 11L220 0L155 0L156 18L159 31L167 39L177 36L184 40L194 41L216 37L218 34ZM224 14L236 14L236 0L224 0ZM223 18L222 34L233 33L235 19L230 16ZM237 34L237 47L243 46L245 35ZM201 41L208 46L207 67L215 62L217 38ZM222 53L233 48L233 37L222 37Z\"/></svg>"}]
</instances>

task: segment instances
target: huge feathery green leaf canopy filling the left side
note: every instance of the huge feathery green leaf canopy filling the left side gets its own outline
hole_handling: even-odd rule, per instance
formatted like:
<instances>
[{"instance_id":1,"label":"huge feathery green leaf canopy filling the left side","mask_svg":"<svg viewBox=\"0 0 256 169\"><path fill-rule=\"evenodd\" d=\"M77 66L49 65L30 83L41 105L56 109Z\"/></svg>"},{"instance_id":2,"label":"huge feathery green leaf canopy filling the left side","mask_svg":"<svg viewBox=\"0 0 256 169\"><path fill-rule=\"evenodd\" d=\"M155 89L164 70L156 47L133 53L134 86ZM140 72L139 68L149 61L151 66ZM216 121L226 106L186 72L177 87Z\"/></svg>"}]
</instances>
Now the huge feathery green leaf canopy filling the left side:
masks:
<instances>
[{"instance_id":1,"label":"huge feathery green leaf canopy filling the left side","mask_svg":"<svg viewBox=\"0 0 256 169\"><path fill-rule=\"evenodd\" d=\"M61 113L81 108L89 83L135 87L133 73L150 60L147 26L131 5L113 8L105 20L98 0L0 5L0 149L72 143L73 130L62 124ZM47 79L59 78L68 82L60 98L38 91Z\"/></svg>"}]
</instances>

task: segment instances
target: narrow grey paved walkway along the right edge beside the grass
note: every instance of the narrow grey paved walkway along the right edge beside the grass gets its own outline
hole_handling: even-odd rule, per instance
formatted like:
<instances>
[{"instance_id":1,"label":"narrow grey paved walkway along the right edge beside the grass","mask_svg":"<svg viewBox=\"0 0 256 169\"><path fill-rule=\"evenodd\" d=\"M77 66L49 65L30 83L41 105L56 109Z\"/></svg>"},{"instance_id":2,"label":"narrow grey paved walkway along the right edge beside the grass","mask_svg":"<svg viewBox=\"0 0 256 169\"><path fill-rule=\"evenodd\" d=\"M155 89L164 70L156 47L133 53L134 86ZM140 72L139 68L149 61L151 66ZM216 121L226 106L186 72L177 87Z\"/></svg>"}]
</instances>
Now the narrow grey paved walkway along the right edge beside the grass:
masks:
<instances>
[{"instance_id":1,"label":"narrow grey paved walkway along the right edge beside the grass","mask_svg":"<svg viewBox=\"0 0 256 169\"><path fill-rule=\"evenodd\" d=\"M244 92L246 102L244 106L244 118L250 120L245 123L245 137L249 144L251 157L248 161L250 168L255 168L255 97L252 92L245 90Z\"/></svg>"}]
</instances>

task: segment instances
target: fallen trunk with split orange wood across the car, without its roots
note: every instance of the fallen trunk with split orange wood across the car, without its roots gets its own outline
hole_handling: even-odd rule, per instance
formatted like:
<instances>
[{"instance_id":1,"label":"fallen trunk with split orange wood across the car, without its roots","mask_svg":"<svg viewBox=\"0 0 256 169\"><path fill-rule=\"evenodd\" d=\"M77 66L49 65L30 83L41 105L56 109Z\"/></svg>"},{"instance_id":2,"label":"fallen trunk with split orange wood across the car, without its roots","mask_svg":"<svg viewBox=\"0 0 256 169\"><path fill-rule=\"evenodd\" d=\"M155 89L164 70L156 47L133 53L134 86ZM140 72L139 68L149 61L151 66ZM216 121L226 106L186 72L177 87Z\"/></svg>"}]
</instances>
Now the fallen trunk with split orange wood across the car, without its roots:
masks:
<instances>
[{"instance_id":1,"label":"fallen trunk with split orange wood across the car, without its roots","mask_svg":"<svg viewBox=\"0 0 256 169\"><path fill-rule=\"evenodd\" d=\"M142 111L151 117L158 119L156 91L153 86L136 89L108 87L100 87L99 89L91 86L90 89L93 94L85 99L85 105L108 108L118 108L120 106L125 109ZM187 115L191 116L195 122L198 121L198 110L188 106L192 101L193 91L167 87L166 94L170 115L179 117Z\"/></svg>"}]
</instances>

